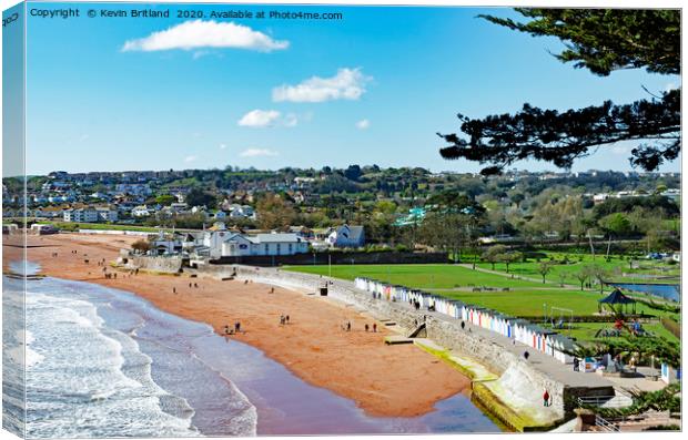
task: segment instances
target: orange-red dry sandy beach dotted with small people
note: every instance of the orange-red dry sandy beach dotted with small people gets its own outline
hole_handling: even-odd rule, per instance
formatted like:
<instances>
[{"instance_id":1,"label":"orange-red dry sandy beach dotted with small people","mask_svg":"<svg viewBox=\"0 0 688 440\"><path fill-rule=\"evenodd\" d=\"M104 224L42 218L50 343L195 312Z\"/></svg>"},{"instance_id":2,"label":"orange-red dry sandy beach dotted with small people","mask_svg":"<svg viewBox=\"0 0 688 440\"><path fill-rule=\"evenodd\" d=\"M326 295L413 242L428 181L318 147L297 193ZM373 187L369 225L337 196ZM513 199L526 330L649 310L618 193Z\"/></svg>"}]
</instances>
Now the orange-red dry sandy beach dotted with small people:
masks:
<instances>
[{"instance_id":1,"label":"orange-red dry sandy beach dotted with small people","mask_svg":"<svg viewBox=\"0 0 688 440\"><path fill-rule=\"evenodd\" d=\"M11 260L21 259L21 248L12 247L14 237L6 238L7 272ZM121 272L117 279L105 279L97 262L114 260L120 248L135 239L120 235L30 236L27 257L41 265L42 274L134 293L164 311L208 323L220 335L225 325L232 327L239 320L245 332L230 337L261 349L306 382L354 400L371 416L424 415L437 401L469 388L466 377L419 348L386 346L383 338L388 330L381 323L376 323L377 332L366 332L364 325L375 323L371 317L331 298L279 287L271 293L266 285L184 275ZM113 269L108 267L108 272ZM290 316L289 325L280 325L281 315ZM346 321L352 324L351 332L341 328Z\"/></svg>"}]
</instances>

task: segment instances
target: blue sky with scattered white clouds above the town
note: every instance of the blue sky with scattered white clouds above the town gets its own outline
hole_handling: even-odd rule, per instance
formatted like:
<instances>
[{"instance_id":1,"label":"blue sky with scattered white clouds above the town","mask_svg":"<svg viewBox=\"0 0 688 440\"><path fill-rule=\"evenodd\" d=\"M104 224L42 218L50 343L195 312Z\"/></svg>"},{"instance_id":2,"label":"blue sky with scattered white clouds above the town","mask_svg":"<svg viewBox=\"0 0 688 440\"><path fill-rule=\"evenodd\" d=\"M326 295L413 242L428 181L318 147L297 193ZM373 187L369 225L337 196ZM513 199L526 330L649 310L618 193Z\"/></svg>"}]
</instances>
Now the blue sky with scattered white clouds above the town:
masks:
<instances>
[{"instance_id":1,"label":"blue sky with scattered white clouds above the town","mask_svg":"<svg viewBox=\"0 0 688 440\"><path fill-rule=\"evenodd\" d=\"M30 174L354 163L473 172L480 166L438 154L435 133L457 131L457 112L621 103L648 98L641 85L680 84L643 71L598 78L555 60L557 40L475 18L508 9L184 7L205 17L226 9L344 17L210 23L174 18L173 4L125 8L170 9L170 19L87 17L102 3L33 7L78 8L82 17L28 18ZM630 147L600 149L574 170L629 170Z\"/></svg>"}]
</instances>

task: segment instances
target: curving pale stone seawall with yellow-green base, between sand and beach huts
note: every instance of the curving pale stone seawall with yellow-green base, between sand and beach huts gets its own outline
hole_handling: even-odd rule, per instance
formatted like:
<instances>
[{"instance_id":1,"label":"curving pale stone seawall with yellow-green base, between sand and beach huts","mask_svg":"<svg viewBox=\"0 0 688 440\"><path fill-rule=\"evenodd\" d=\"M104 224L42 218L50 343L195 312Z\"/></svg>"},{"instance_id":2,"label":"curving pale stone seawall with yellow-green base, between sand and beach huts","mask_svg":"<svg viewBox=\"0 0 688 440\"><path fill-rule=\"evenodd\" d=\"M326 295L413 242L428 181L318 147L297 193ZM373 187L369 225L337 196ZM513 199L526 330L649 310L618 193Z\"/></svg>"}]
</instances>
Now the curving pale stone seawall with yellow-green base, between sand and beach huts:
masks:
<instances>
[{"instance_id":1,"label":"curving pale stone seawall with yellow-green base, between sand and beach huts","mask_svg":"<svg viewBox=\"0 0 688 440\"><path fill-rule=\"evenodd\" d=\"M327 295L377 319L395 321L407 335L416 323L425 321L429 341L417 345L453 364L473 379L473 398L513 430L548 429L573 417L577 396L611 396L606 379L591 374L574 372L571 366L552 357L532 352L526 361L526 346L514 344L477 326L461 327L461 320L445 315L415 310L407 304L374 298L346 280L299 274L272 268L224 266L203 270L206 275L229 276L255 283L317 291L327 286ZM543 406L543 392L552 396L552 406Z\"/></svg>"}]
</instances>

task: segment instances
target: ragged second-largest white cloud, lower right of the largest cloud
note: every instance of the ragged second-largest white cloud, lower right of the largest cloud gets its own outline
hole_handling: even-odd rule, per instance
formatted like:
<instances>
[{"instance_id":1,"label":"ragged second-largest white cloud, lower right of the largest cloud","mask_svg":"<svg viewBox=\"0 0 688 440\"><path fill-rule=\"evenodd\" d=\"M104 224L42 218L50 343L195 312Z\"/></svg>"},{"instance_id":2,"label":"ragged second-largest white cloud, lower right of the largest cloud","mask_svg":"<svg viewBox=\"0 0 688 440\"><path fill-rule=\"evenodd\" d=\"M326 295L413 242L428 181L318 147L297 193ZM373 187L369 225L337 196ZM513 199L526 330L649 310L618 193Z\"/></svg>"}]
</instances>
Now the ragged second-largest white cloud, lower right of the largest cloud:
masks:
<instances>
[{"instance_id":1,"label":"ragged second-largest white cloud, lower right of the largest cloud","mask_svg":"<svg viewBox=\"0 0 688 440\"><path fill-rule=\"evenodd\" d=\"M365 93L365 84L371 80L361 69L340 69L332 78L312 76L296 85L282 84L274 88L272 99L276 102L355 101Z\"/></svg>"}]
</instances>

